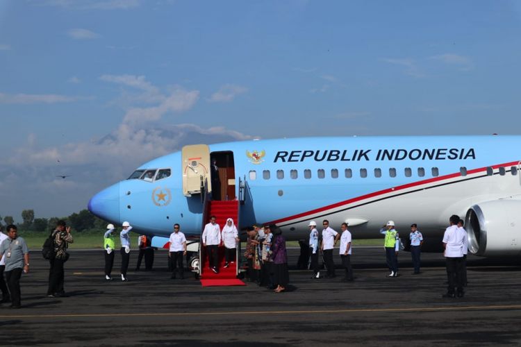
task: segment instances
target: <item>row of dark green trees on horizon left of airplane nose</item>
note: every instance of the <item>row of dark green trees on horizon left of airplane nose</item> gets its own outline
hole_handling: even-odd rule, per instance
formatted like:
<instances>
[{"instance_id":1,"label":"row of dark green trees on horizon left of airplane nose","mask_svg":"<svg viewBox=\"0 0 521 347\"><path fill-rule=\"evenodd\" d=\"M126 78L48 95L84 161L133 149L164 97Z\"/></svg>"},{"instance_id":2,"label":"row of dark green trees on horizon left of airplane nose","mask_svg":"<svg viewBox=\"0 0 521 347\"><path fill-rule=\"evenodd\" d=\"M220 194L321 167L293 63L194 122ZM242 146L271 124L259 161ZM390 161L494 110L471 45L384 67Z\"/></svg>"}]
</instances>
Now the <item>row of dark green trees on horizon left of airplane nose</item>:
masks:
<instances>
[{"instance_id":1,"label":"row of dark green trees on horizon left of airplane nose","mask_svg":"<svg viewBox=\"0 0 521 347\"><path fill-rule=\"evenodd\" d=\"M36 231L36 232L51 232L56 228L58 221L64 220L67 225L77 232L84 232L88 230L104 230L107 221L104 219L94 216L89 210L81 210L78 213L73 213L68 217L51 217L47 218L35 218L34 210L23 210L22 211L22 223L17 223L18 230L23 231ZM3 221L3 223L2 223ZM12 216L1 217L0 226L8 226L9 224L15 224L15 219Z\"/></svg>"}]
</instances>

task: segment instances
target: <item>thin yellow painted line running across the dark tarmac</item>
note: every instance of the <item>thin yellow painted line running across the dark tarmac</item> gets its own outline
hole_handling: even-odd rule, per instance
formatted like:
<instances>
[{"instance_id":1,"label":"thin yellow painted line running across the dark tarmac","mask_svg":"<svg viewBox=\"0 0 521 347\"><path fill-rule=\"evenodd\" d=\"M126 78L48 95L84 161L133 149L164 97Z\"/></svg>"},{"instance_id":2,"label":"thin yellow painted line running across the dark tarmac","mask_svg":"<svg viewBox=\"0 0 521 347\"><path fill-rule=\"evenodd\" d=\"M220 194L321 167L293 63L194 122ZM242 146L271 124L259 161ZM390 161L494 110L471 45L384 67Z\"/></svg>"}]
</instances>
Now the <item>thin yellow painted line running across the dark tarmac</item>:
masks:
<instances>
[{"instance_id":1,"label":"thin yellow painted line running across the dark tarmac","mask_svg":"<svg viewBox=\"0 0 521 347\"><path fill-rule=\"evenodd\" d=\"M521 310L521 305L459 306L459 307L409 307L353 310L303 310L303 311L243 311L243 312L166 312L166 313L114 313L114 314L19 314L0 315L1 319L12 318L97 318L97 317L143 317L143 316L242 316L249 314L334 314L365 312L442 312L470 310Z\"/></svg>"}]
</instances>

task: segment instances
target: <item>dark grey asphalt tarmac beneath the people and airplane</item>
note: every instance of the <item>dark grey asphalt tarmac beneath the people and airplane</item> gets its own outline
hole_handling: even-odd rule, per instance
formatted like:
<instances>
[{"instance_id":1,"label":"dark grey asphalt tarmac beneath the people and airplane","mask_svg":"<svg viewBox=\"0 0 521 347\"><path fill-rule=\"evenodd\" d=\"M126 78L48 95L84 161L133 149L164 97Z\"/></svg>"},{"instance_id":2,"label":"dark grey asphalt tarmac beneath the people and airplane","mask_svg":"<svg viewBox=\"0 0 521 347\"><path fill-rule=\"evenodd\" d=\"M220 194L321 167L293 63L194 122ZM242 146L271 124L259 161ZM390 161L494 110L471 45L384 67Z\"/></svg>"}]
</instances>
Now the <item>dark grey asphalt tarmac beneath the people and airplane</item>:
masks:
<instances>
[{"instance_id":1,"label":"dark grey asphalt tarmac beneath the people and airplane","mask_svg":"<svg viewBox=\"0 0 521 347\"><path fill-rule=\"evenodd\" d=\"M295 268L290 287L276 294L246 287L201 287L192 276L170 280L167 253L156 251L154 271L104 280L103 251L71 251L66 298L47 298L48 263L31 253L22 276L22 309L0 307L3 346L497 346L521 345L521 267L517 260L469 257L464 298L443 299L445 262L423 254L413 275L409 253L400 276L387 278L382 248L354 248L356 280L311 280ZM336 257L335 262L340 263ZM503 262L504 263L504 262ZM187 273L188 275L188 273Z\"/></svg>"}]
</instances>

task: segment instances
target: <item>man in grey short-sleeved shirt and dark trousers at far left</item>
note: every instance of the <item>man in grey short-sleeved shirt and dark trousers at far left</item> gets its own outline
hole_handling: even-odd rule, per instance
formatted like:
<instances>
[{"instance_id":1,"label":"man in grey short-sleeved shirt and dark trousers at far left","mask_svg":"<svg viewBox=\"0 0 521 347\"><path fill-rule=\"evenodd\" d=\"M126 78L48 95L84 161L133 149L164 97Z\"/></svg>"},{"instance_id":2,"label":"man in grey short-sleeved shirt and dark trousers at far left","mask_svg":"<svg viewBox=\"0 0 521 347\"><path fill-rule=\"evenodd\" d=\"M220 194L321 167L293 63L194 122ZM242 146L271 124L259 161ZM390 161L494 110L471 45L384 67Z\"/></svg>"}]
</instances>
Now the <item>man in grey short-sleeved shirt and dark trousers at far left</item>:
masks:
<instances>
[{"instance_id":1,"label":"man in grey short-sleeved shirt and dark trousers at far left","mask_svg":"<svg viewBox=\"0 0 521 347\"><path fill-rule=\"evenodd\" d=\"M18 237L17 227L13 224L7 226L8 239L4 239L0 244L0 260L6 262L6 280L11 293L10 308L20 308L20 277L22 270L29 272L29 249L22 237ZM5 258L5 259L4 259Z\"/></svg>"}]
</instances>

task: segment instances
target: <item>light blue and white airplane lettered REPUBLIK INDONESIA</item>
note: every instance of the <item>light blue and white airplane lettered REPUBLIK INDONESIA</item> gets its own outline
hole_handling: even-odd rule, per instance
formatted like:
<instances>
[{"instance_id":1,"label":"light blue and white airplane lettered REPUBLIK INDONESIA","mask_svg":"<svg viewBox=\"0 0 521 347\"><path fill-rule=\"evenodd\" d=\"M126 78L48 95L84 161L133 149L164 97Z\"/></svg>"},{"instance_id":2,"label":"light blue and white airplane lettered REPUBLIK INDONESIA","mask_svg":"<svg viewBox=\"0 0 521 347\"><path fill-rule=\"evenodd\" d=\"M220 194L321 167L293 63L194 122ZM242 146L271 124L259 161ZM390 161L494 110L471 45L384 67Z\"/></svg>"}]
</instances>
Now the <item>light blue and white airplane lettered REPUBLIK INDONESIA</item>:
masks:
<instances>
[{"instance_id":1,"label":"light blue and white airplane lettered REPUBLIK INDONESIA","mask_svg":"<svg viewBox=\"0 0 521 347\"><path fill-rule=\"evenodd\" d=\"M471 253L520 255L520 146L519 136L492 135L185 146L99 192L88 208L114 223L131 221L154 236L154 246L168 242L174 223L185 235L201 235L213 189L223 201L238 201L240 228L275 223L288 239L306 239L309 221L322 219L337 230L346 221L354 238L377 238L392 219L402 237L417 223L425 246L439 248L449 216L458 214ZM211 177L213 160L220 185Z\"/></svg>"}]
</instances>

